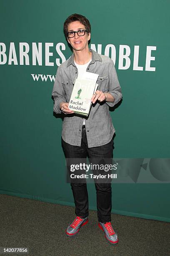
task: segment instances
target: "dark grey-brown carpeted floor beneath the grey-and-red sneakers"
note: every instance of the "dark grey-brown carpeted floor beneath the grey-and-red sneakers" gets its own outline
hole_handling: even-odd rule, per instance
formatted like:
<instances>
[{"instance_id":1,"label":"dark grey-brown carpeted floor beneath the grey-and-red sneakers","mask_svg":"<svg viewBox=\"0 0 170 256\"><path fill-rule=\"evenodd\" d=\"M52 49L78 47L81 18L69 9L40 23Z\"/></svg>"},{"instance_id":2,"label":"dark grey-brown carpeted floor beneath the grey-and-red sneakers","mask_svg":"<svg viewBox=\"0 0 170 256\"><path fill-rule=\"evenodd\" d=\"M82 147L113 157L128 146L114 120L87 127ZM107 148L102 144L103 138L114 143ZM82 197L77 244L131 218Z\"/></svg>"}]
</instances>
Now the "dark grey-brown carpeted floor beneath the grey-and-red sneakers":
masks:
<instances>
[{"instance_id":1,"label":"dark grey-brown carpeted floor beneath the grey-and-red sneakers","mask_svg":"<svg viewBox=\"0 0 170 256\"><path fill-rule=\"evenodd\" d=\"M113 246L98 228L95 211L76 237L67 237L74 218L73 207L0 195L0 247L27 247L29 253L19 255L33 256L170 255L170 223L112 214L119 238Z\"/></svg>"}]
</instances>

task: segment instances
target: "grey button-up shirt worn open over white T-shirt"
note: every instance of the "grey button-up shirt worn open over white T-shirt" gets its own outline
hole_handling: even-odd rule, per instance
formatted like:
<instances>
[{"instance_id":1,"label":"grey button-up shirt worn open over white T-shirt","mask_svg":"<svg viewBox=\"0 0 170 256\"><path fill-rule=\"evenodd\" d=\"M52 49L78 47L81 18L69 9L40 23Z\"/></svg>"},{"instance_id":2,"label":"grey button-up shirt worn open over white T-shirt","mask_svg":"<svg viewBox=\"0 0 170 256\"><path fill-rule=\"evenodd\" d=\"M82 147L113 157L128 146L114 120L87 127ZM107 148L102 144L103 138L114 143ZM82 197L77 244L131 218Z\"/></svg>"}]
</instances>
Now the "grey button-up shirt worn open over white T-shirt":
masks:
<instances>
[{"instance_id":1,"label":"grey button-up shirt worn open over white T-shirt","mask_svg":"<svg viewBox=\"0 0 170 256\"><path fill-rule=\"evenodd\" d=\"M109 143L115 133L109 113L109 107L113 107L122 98L121 88L117 79L115 66L112 59L97 54L92 49L92 61L87 67L87 72L99 74L98 88L102 92L110 93L115 102L95 102L92 104L88 117L77 114L64 115L62 124L62 138L66 143L81 146L82 124L85 118L88 147L102 146ZM54 112L62 113L61 102L69 102L78 70L74 63L74 54L57 69L52 96L54 98ZM83 117L83 118L82 118Z\"/></svg>"}]
</instances>

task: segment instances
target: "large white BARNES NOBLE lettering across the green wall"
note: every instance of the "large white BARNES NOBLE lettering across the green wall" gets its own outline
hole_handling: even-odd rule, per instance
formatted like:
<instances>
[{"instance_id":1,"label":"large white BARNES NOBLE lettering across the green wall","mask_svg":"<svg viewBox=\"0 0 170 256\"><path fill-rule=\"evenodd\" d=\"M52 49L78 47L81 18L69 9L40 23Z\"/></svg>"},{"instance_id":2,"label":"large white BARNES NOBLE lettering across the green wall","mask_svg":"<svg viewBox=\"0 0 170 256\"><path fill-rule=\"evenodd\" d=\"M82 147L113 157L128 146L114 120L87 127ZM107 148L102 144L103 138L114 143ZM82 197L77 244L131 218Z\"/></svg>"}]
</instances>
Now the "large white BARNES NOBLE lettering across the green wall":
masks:
<instances>
[{"instance_id":1,"label":"large white BARNES NOBLE lettering across the green wall","mask_svg":"<svg viewBox=\"0 0 170 256\"><path fill-rule=\"evenodd\" d=\"M7 49L5 43L0 42L0 64L18 65L18 59L20 59L20 65L30 65L29 57L31 56L31 54L33 66L54 66L55 64L59 67L63 62L66 61L65 55L63 53L63 51L65 51L66 49L64 43L57 43L55 45L55 52L53 48L53 43L44 43L44 46L45 51L42 51L43 43L40 42L32 42L32 48L26 42L20 42L19 44L10 42L9 49ZM18 47L18 49L16 49L16 47ZM119 49L116 49L116 46L114 44L107 44L105 48L102 46L102 44L91 44L90 48L94 51L97 51L97 53L99 54L109 56L114 62L114 64L117 59L118 69L129 69L130 64L132 63L133 70L143 71L145 69L145 71L155 71L155 67L150 67L150 65L151 61L155 61L155 56L152 56L152 51L156 51L156 46L147 46L146 53L143 53L142 51L142 54L145 54L146 57L143 65L140 66L139 59L141 53L139 45L134 46L134 55L130 54L130 46L122 44L119 46ZM30 49L32 49L32 52L30 51ZM19 55L17 56L18 51ZM53 55L57 55L56 53L58 54L58 57L54 56L54 58L51 58L50 61L50 57L52 57ZM45 54L45 63L42 63L42 59L44 59L43 54ZM118 58L116 58L116 54L117 56L119 54ZM55 59L55 63L52 61L52 59Z\"/></svg>"}]
</instances>

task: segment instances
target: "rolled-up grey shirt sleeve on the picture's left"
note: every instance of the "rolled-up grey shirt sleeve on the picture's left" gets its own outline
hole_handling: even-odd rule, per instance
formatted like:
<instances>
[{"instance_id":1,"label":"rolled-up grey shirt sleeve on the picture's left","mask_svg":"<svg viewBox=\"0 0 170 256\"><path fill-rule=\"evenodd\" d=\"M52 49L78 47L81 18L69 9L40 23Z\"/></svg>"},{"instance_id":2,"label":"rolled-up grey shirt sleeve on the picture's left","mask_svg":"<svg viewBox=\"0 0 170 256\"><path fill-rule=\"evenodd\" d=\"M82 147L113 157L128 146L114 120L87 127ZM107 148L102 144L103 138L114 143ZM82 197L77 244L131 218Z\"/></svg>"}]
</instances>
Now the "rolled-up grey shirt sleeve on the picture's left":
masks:
<instances>
[{"instance_id":1,"label":"rolled-up grey shirt sleeve on the picture's left","mask_svg":"<svg viewBox=\"0 0 170 256\"><path fill-rule=\"evenodd\" d=\"M63 90L61 81L62 81L62 74L61 74L61 71L60 71L60 67L58 67L57 74L55 76L55 82L54 82L53 90L52 90L52 97L54 99L53 111L56 114L62 113L62 111L60 110L60 103L61 102L66 102L65 91Z\"/></svg>"}]
</instances>

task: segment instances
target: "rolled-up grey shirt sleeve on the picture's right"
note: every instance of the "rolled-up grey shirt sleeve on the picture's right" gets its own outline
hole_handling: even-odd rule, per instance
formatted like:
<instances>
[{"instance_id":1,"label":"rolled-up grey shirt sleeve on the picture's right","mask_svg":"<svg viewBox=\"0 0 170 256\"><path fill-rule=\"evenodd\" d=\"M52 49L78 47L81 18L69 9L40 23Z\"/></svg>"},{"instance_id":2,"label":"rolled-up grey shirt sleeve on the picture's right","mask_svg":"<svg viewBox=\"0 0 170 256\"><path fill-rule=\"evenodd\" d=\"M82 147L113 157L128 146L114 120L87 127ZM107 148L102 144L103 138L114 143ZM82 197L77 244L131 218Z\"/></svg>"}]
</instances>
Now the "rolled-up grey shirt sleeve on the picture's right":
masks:
<instances>
[{"instance_id":1,"label":"rolled-up grey shirt sleeve on the picture's right","mask_svg":"<svg viewBox=\"0 0 170 256\"><path fill-rule=\"evenodd\" d=\"M109 72L108 93L110 93L114 97L115 101L106 102L106 104L109 107L114 107L114 105L116 105L122 98L122 90L121 90L119 80L117 78L115 66L112 60L111 60L111 68Z\"/></svg>"}]
</instances>

